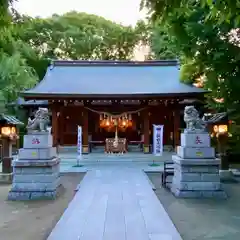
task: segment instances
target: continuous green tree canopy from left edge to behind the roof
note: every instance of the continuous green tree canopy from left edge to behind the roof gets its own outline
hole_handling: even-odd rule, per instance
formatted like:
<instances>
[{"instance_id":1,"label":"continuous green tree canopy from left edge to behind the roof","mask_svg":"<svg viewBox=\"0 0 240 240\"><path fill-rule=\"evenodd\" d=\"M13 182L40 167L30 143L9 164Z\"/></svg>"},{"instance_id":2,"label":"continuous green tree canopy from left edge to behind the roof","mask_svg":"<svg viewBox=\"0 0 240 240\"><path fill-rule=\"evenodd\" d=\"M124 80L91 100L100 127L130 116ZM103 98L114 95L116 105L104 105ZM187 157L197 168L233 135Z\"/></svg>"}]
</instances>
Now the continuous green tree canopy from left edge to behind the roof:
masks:
<instances>
[{"instance_id":1,"label":"continuous green tree canopy from left edge to behind the roof","mask_svg":"<svg viewBox=\"0 0 240 240\"><path fill-rule=\"evenodd\" d=\"M1 1L0 86L6 101L41 80L53 59L127 59L142 39L139 29L102 17L69 12L49 18L21 16Z\"/></svg>"}]
</instances>

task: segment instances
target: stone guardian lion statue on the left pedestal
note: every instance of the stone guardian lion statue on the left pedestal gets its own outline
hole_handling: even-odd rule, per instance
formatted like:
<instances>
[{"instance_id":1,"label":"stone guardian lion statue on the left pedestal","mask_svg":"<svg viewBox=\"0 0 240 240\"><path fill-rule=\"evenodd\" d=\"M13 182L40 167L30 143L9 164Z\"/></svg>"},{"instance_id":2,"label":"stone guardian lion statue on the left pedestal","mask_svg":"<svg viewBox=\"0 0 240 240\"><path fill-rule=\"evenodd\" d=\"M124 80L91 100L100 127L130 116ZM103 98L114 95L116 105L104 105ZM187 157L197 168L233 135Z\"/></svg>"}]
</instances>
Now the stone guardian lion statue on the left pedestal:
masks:
<instances>
[{"instance_id":1,"label":"stone guardian lion statue on the left pedestal","mask_svg":"<svg viewBox=\"0 0 240 240\"><path fill-rule=\"evenodd\" d=\"M47 132L47 125L49 123L49 112L47 108L38 108L34 114L34 119L28 119L27 130L28 132L38 131Z\"/></svg>"}]
</instances>

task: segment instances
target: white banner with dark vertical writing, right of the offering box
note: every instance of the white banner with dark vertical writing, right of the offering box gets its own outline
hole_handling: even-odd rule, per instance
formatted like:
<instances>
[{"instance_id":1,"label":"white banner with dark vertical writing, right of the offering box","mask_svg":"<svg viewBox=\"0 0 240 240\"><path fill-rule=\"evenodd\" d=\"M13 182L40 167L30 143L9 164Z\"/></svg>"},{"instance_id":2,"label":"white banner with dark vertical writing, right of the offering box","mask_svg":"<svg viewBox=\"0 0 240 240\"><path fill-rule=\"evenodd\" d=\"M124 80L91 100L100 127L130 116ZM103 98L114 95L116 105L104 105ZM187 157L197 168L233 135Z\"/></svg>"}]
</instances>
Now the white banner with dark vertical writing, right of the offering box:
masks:
<instances>
[{"instance_id":1,"label":"white banner with dark vertical writing, right of the offering box","mask_svg":"<svg viewBox=\"0 0 240 240\"><path fill-rule=\"evenodd\" d=\"M153 124L153 154L162 156L163 153L163 125Z\"/></svg>"}]
</instances>

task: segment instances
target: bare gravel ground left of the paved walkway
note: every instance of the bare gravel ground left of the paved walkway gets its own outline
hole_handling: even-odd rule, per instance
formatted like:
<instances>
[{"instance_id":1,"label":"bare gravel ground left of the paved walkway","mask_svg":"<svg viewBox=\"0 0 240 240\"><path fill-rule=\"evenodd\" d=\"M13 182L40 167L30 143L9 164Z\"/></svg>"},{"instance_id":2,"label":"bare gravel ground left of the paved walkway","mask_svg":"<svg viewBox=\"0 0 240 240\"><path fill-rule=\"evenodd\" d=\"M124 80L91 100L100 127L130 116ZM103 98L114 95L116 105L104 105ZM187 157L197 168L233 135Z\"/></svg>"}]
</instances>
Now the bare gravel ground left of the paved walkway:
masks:
<instances>
[{"instance_id":1,"label":"bare gravel ground left of the paved walkway","mask_svg":"<svg viewBox=\"0 0 240 240\"><path fill-rule=\"evenodd\" d=\"M6 201L11 185L0 185L0 240L45 240L74 196L84 173L64 173L56 200Z\"/></svg>"}]
</instances>

